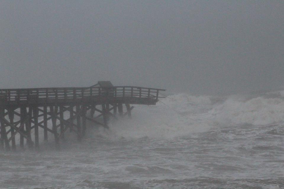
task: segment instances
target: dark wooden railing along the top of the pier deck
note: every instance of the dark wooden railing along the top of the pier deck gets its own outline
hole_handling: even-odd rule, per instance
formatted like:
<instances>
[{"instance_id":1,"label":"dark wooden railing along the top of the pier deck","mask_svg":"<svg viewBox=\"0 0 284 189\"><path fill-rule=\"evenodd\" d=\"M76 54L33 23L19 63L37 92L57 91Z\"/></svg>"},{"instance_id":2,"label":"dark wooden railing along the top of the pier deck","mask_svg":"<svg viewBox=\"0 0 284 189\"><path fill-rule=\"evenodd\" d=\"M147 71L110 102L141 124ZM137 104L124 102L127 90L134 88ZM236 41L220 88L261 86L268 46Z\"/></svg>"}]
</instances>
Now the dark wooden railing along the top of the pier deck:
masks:
<instances>
[{"instance_id":1,"label":"dark wooden railing along the top of the pier deck","mask_svg":"<svg viewBox=\"0 0 284 189\"><path fill-rule=\"evenodd\" d=\"M0 100L30 101L30 100L57 100L82 99L92 97L138 97L156 99L159 91L145 87L118 86L118 87L76 87L76 88L31 88L31 89L0 89Z\"/></svg>"}]
</instances>

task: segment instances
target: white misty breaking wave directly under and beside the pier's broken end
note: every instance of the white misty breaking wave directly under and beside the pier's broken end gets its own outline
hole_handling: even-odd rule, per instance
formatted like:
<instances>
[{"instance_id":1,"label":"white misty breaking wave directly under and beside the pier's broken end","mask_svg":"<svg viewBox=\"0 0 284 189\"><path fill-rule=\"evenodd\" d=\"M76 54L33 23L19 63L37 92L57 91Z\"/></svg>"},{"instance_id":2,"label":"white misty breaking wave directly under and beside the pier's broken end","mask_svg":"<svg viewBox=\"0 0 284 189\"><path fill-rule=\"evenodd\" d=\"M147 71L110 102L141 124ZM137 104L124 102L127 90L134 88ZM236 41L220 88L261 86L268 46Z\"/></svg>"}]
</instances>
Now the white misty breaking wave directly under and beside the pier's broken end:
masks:
<instances>
[{"instance_id":1,"label":"white misty breaking wave directly under and beside the pier's broken end","mask_svg":"<svg viewBox=\"0 0 284 189\"><path fill-rule=\"evenodd\" d=\"M211 106L210 98L182 93L162 99L156 106L135 105L132 119L110 122L110 131L103 135L112 139L173 138L208 131L206 120L200 120L204 106L200 109L199 105Z\"/></svg>"}]
</instances>

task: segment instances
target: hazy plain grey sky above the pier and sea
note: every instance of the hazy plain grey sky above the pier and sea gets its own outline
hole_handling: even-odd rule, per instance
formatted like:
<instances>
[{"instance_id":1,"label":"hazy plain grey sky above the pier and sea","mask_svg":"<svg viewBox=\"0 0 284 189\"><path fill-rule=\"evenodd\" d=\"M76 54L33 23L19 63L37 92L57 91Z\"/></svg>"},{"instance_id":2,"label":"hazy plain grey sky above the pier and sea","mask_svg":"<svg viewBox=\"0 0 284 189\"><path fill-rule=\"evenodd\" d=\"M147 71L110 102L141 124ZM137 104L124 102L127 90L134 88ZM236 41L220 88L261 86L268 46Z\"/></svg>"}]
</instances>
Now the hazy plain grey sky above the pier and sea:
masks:
<instances>
[{"instance_id":1,"label":"hazy plain grey sky above the pier and sea","mask_svg":"<svg viewBox=\"0 0 284 189\"><path fill-rule=\"evenodd\" d=\"M284 86L284 1L2 1L0 88Z\"/></svg>"}]
</instances>

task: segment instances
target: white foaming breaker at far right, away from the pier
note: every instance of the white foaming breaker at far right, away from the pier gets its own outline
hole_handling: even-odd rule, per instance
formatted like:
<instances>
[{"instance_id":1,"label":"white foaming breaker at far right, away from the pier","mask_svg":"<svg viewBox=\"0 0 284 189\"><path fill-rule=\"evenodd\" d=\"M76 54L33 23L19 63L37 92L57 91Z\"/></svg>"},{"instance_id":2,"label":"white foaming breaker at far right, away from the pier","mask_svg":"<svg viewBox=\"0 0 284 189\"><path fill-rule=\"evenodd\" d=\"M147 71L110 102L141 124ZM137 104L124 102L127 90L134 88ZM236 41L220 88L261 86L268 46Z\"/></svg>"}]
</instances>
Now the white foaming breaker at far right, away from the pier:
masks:
<instances>
[{"instance_id":1,"label":"white foaming breaker at far right, away from the pier","mask_svg":"<svg viewBox=\"0 0 284 189\"><path fill-rule=\"evenodd\" d=\"M219 123L268 125L283 121L284 100L264 97L250 100L229 98L209 113Z\"/></svg>"}]
</instances>

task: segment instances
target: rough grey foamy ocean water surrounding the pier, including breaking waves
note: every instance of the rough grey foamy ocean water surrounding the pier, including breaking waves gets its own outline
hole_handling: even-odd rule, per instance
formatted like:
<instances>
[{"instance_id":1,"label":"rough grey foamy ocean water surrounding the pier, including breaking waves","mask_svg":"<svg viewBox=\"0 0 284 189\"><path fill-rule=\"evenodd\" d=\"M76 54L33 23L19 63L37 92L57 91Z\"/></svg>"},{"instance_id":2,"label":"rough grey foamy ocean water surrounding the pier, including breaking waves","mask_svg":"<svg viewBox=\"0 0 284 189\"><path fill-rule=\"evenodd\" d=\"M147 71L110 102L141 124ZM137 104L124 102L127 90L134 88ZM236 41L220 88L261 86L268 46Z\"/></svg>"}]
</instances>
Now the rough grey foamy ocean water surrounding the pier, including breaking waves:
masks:
<instances>
[{"instance_id":1,"label":"rough grey foamy ocean water surrounding the pier, including breaking waves","mask_svg":"<svg viewBox=\"0 0 284 189\"><path fill-rule=\"evenodd\" d=\"M284 91L134 106L60 151L0 152L0 188L284 188Z\"/></svg>"}]
</instances>

